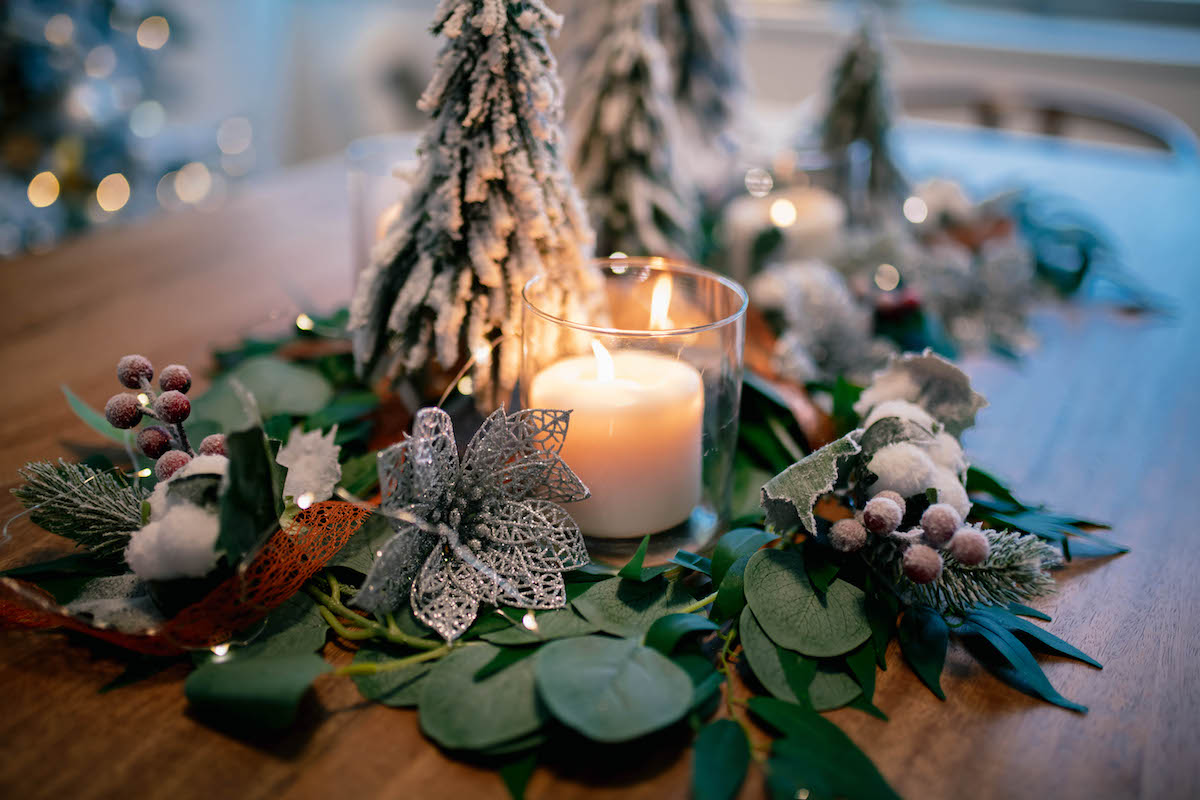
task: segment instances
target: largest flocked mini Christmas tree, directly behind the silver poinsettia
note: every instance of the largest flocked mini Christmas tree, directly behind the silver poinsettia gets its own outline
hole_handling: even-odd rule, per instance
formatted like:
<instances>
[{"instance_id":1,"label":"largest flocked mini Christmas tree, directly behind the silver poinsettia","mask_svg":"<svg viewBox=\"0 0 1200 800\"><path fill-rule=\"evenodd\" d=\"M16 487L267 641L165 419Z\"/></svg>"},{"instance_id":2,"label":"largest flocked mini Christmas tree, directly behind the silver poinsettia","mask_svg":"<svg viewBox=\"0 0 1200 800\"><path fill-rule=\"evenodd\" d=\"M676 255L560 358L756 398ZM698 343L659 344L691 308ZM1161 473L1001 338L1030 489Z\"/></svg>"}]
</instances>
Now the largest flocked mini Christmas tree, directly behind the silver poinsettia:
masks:
<instances>
[{"instance_id":1,"label":"largest flocked mini Christmas tree, directly behind the silver poinsettia","mask_svg":"<svg viewBox=\"0 0 1200 800\"><path fill-rule=\"evenodd\" d=\"M413 373L468 354L491 407L516 381L521 290L545 273L574 318L595 301L592 231L563 161L562 85L541 0L443 0L446 42L418 106L433 115L403 212L350 306L361 374Z\"/></svg>"}]
</instances>

